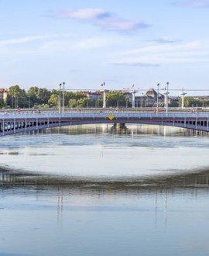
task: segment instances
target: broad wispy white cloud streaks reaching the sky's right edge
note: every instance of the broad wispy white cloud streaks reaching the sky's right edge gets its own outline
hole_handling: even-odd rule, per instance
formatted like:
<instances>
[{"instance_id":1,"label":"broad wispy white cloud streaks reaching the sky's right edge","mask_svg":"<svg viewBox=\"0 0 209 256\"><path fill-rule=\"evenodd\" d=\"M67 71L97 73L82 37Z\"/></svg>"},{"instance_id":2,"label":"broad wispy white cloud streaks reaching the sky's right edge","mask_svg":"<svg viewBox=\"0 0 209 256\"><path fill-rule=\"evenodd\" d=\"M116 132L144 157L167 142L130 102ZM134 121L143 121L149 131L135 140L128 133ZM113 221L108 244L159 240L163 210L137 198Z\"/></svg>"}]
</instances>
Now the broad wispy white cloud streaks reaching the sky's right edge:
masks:
<instances>
[{"instance_id":1,"label":"broad wispy white cloud streaks reaching the sky's right edge","mask_svg":"<svg viewBox=\"0 0 209 256\"><path fill-rule=\"evenodd\" d=\"M144 65L150 67L163 64L209 64L209 41L194 41L188 43L168 43L159 45L145 45L136 49L115 54L112 64L126 66ZM117 60L117 61L115 61Z\"/></svg>"}]
</instances>

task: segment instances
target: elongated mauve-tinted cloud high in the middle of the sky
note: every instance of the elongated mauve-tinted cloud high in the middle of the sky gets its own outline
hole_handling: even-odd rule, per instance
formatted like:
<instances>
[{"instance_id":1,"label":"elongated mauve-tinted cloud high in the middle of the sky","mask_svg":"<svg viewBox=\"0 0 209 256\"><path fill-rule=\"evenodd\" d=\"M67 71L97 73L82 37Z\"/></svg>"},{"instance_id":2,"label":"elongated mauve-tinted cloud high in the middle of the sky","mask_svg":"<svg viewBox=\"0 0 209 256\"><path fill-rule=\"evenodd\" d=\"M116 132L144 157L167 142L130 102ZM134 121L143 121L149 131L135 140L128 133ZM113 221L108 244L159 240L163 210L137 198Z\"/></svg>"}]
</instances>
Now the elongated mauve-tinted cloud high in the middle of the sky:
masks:
<instances>
[{"instance_id":1,"label":"elongated mauve-tinted cloud high in the middle of the sky","mask_svg":"<svg viewBox=\"0 0 209 256\"><path fill-rule=\"evenodd\" d=\"M130 32L149 27L144 22L124 19L115 13L106 12L103 9L57 9L50 15L59 19L78 19L88 21L102 29Z\"/></svg>"}]
</instances>

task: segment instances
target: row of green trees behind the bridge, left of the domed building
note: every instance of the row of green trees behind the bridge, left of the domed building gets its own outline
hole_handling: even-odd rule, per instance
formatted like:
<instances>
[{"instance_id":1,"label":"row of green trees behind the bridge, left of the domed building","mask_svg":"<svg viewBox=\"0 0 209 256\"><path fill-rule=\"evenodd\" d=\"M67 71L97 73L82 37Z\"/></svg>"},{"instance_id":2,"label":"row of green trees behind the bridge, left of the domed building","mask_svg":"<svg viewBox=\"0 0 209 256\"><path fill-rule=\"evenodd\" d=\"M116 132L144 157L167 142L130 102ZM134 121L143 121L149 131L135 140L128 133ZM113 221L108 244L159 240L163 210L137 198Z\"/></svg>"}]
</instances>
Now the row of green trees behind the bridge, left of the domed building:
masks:
<instances>
[{"instance_id":1,"label":"row of green trees behind the bridge, left of the domed building","mask_svg":"<svg viewBox=\"0 0 209 256\"><path fill-rule=\"evenodd\" d=\"M107 106L111 107L128 107L128 97L122 92L108 92ZM48 90L33 86L28 91L12 85L8 89L6 102L1 100L2 108L59 108L63 106L63 92L60 90ZM96 99L89 99L83 92L64 92L64 107L66 108L99 108L103 105L102 95Z\"/></svg>"}]
</instances>

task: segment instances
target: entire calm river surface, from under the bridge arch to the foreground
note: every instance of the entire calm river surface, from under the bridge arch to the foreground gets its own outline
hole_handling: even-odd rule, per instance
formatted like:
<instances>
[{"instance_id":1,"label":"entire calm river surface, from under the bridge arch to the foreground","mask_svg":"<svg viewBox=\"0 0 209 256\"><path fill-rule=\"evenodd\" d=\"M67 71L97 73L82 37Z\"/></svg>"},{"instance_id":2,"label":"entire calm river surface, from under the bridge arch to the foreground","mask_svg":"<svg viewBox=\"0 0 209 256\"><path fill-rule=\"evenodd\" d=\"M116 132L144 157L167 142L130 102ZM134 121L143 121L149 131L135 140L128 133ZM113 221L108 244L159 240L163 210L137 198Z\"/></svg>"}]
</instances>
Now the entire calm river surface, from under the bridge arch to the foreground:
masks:
<instances>
[{"instance_id":1,"label":"entire calm river surface, from under the bridge arch to the foreground","mask_svg":"<svg viewBox=\"0 0 209 256\"><path fill-rule=\"evenodd\" d=\"M163 126L2 137L0 255L208 255L208 156Z\"/></svg>"}]
</instances>

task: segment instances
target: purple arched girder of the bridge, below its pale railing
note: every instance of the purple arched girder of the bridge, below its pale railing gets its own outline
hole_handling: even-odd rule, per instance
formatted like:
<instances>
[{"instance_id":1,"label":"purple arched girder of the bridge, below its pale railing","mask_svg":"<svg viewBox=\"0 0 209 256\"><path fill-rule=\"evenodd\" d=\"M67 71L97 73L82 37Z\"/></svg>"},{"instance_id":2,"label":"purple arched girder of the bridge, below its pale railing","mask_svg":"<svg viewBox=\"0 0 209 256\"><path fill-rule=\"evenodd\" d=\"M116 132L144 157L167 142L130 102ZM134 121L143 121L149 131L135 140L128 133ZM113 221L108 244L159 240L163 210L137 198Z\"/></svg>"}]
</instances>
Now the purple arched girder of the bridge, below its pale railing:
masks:
<instances>
[{"instance_id":1,"label":"purple arched girder of the bridge, below its pale railing","mask_svg":"<svg viewBox=\"0 0 209 256\"><path fill-rule=\"evenodd\" d=\"M108 117L84 117L84 118L15 118L0 119L0 136L10 135L14 133L23 133L32 130L42 130L46 128L58 126L73 126L82 124L115 124L115 123L133 123L133 124L149 124L161 126L174 126L187 128L192 130L209 131L209 119L207 118L172 118L172 117L135 117L135 118L114 118L110 120Z\"/></svg>"}]
</instances>

